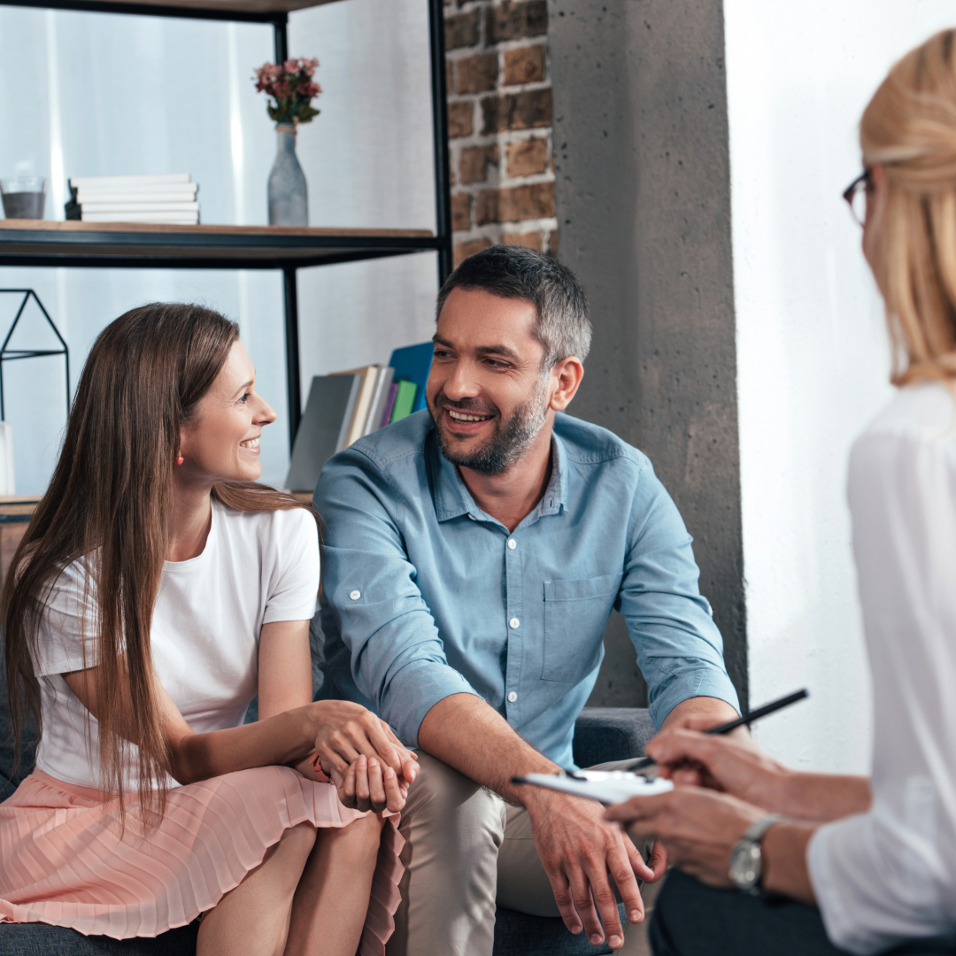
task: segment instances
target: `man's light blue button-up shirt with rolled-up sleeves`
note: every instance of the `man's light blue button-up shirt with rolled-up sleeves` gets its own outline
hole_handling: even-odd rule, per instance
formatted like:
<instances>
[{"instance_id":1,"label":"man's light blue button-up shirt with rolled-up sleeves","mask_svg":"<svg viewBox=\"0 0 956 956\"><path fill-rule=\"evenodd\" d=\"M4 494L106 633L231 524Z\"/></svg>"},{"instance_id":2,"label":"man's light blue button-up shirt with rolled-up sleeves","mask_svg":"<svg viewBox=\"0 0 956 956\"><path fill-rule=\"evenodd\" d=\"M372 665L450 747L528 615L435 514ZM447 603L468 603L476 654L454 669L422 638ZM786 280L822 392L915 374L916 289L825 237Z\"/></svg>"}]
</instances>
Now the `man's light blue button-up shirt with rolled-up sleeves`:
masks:
<instances>
[{"instance_id":1,"label":"man's light blue button-up shirt with rolled-up sleeves","mask_svg":"<svg viewBox=\"0 0 956 956\"><path fill-rule=\"evenodd\" d=\"M371 708L416 747L432 706L475 694L572 767L617 608L657 727L688 697L738 707L690 535L646 456L560 414L552 447L548 489L511 534L475 504L427 411L326 464L320 697Z\"/></svg>"}]
</instances>

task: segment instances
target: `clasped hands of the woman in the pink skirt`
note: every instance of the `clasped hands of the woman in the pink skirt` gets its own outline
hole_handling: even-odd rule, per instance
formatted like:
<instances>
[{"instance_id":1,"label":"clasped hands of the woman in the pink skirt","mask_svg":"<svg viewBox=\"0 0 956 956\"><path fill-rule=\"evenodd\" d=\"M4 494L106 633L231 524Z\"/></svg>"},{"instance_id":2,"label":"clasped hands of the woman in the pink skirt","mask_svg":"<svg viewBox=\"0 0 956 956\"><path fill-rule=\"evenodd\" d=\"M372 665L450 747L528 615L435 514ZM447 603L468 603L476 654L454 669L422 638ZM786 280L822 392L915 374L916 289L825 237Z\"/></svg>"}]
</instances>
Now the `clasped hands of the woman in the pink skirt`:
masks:
<instances>
[{"instance_id":1,"label":"clasped hands of the woman in the pink skirt","mask_svg":"<svg viewBox=\"0 0 956 956\"><path fill-rule=\"evenodd\" d=\"M317 701L315 750L294 766L312 780L320 770L335 785L343 806L399 813L418 775L418 757L383 720L351 701Z\"/></svg>"}]
</instances>

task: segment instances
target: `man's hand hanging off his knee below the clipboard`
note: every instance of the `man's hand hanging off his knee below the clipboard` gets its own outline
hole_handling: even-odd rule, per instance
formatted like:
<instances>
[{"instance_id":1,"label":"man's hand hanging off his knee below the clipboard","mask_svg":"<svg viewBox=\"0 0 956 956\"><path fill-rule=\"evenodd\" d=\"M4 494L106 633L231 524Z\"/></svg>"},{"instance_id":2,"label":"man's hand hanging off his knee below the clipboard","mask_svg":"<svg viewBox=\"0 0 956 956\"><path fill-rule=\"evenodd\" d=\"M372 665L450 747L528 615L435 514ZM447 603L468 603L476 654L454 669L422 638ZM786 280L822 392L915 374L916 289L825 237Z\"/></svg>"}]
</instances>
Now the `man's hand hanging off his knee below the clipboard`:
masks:
<instances>
[{"instance_id":1,"label":"man's hand hanging off his knee below the clipboard","mask_svg":"<svg viewBox=\"0 0 956 956\"><path fill-rule=\"evenodd\" d=\"M641 923L644 904L638 879L663 876L666 859L651 869L617 826L603 818L599 804L576 796L536 792L526 797L538 857L554 890L564 924L573 933L583 927L594 945L624 944L618 902L609 874L617 884L631 923ZM603 928L602 928L603 923Z\"/></svg>"}]
</instances>

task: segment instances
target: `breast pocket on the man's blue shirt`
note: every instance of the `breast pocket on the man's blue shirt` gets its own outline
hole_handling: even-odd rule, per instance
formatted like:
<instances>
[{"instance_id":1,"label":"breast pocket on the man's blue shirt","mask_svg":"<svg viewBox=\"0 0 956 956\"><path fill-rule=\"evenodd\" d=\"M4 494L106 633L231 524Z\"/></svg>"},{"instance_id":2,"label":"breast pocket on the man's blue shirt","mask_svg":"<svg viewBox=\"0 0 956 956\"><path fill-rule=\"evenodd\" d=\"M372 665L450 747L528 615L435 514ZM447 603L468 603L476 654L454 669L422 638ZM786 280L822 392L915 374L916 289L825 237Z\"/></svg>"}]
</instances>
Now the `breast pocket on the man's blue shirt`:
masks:
<instances>
[{"instance_id":1,"label":"breast pocket on the man's blue shirt","mask_svg":"<svg viewBox=\"0 0 956 956\"><path fill-rule=\"evenodd\" d=\"M544 582L541 680L576 684L597 667L621 575Z\"/></svg>"}]
</instances>

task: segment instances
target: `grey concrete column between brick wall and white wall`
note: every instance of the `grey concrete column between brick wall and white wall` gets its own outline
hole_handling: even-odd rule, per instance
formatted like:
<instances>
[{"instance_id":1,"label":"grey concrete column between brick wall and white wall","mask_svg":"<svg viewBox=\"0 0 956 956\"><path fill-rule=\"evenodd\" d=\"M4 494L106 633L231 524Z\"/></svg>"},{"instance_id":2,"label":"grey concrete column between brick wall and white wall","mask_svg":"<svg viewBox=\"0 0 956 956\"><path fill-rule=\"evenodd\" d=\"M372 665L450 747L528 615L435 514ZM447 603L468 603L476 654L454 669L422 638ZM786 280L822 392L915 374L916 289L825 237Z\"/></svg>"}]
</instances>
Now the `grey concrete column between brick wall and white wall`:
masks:
<instances>
[{"instance_id":1,"label":"grey concrete column between brick wall and white wall","mask_svg":"<svg viewBox=\"0 0 956 956\"><path fill-rule=\"evenodd\" d=\"M723 3L549 0L549 42L558 257L595 326L570 411L654 463L745 703ZM591 704L645 701L618 615L605 646Z\"/></svg>"}]
</instances>

